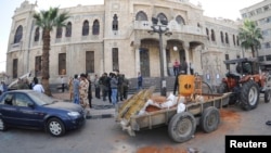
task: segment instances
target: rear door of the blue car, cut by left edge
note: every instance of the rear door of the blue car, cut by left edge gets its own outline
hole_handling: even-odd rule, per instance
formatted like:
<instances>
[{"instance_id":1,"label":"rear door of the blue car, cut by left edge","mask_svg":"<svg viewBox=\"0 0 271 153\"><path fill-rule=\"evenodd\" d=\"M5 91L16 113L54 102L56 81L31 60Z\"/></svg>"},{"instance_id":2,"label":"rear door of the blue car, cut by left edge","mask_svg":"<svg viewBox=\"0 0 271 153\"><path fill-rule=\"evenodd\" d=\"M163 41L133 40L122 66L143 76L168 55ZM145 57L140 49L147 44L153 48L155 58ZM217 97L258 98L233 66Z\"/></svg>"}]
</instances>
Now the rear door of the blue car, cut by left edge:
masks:
<instances>
[{"instance_id":1,"label":"rear door of the blue car, cut by left edge","mask_svg":"<svg viewBox=\"0 0 271 153\"><path fill-rule=\"evenodd\" d=\"M13 93L7 93L3 95L0 106L0 115L4 123L9 125L20 125L16 119L17 109L13 105Z\"/></svg>"}]
</instances>

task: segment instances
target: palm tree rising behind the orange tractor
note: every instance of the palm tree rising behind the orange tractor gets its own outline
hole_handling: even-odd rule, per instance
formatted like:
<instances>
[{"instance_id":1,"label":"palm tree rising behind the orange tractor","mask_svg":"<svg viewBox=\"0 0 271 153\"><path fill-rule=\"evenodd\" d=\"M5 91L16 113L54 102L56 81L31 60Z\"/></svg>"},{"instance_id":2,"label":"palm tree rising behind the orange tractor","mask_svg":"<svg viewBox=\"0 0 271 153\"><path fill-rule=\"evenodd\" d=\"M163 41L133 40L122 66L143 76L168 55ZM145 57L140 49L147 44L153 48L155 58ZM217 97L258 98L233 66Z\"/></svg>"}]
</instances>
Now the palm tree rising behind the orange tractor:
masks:
<instances>
[{"instance_id":1,"label":"palm tree rising behind the orange tractor","mask_svg":"<svg viewBox=\"0 0 271 153\"><path fill-rule=\"evenodd\" d=\"M251 49L253 58L255 58L255 51L258 54L258 47L260 47L260 39L262 38L261 29L256 26L256 23L246 18L243 26L240 28L238 37L241 46L245 49Z\"/></svg>"}]
</instances>

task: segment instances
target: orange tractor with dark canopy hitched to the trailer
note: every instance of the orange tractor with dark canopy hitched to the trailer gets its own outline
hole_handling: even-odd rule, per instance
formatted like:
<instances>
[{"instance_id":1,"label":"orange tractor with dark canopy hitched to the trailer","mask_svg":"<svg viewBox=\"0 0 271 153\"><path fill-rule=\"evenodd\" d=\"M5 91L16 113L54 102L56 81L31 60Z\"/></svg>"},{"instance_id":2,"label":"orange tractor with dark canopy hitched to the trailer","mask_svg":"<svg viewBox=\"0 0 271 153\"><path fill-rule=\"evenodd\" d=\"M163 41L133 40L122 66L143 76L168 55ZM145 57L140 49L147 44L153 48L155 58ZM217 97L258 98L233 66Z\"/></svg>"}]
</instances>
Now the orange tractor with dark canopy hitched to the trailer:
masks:
<instances>
[{"instance_id":1,"label":"orange tractor with dark canopy hitched to the trailer","mask_svg":"<svg viewBox=\"0 0 271 153\"><path fill-rule=\"evenodd\" d=\"M229 71L218 87L219 93L232 92L229 104L240 104L245 111L254 110L259 103L259 94L264 94L264 102L271 99L271 75L261 72L260 62L255 58L224 61L234 65L236 72Z\"/></svg>"}]
</instances>

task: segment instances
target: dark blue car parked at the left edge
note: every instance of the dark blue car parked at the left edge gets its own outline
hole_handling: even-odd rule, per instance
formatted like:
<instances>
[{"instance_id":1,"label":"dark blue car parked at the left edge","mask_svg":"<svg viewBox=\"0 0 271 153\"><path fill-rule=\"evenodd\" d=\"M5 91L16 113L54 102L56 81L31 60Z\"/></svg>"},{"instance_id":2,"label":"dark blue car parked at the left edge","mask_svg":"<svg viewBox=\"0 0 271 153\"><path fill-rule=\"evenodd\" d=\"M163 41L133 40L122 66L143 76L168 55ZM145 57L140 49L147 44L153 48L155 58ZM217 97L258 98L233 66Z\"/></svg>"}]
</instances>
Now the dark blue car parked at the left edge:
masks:
<instances>
[{"instance_id":1,"label":"dark blue car parked at the left edge","mask_svg":"<svg viewBox=\"0 0 271 153\"><path fill-rule=\"evenodd\" d=\"M54 137L79 128L85 123L83 109L70 102L34 90L12 90L0 97L0 130L8 127L44 129Z\"/></svg>"}]
</instances>

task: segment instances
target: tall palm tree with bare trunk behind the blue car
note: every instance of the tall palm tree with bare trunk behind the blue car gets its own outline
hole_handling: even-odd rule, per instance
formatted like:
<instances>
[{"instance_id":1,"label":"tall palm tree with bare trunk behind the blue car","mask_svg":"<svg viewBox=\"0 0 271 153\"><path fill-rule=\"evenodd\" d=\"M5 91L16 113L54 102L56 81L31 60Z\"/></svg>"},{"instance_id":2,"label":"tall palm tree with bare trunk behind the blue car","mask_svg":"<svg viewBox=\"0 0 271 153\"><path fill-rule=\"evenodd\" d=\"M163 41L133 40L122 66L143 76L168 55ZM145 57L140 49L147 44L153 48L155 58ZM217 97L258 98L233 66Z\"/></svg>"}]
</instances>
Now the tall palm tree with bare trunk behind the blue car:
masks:
<instances>
[{"instance_id":1,"label":"tall palm tree with bare trunk behind the blue car","mask_svg":"<svg viewBox=\"0 0 271 153\"><path fill-rule=\"evenodd\" d=\"M69 17L67 12L59 13L59 8L51 8L48 11L40 11L39 13L35 13L33 16L36 20L36 25L42 29L42 63L41 63L41 76L42 76L42 85L44 88L44 92L48 95L51 94L51 90L49 88L49 78L50 78L50 69L49 69L49 56L50 56L50 31L53 27L63 27L66 26L65 21Z\"/></svg>"}]
</instances>

